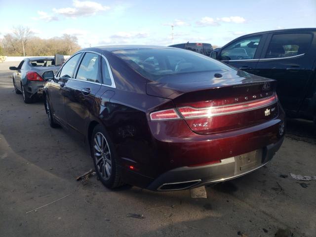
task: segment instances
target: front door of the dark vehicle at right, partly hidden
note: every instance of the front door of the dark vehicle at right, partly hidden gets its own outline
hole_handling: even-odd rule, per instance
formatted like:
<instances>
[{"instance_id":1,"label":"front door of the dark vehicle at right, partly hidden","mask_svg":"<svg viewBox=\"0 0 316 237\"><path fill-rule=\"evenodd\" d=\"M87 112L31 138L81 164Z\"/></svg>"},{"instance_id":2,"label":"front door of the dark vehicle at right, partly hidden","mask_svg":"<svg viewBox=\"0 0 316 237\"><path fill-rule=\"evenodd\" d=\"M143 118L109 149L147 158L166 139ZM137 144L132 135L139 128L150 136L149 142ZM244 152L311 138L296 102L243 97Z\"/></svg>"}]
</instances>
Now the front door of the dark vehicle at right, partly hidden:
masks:
<instances>
[{"instance_id":1,"label":"front door of the dark vehicle at right, partly hidden","mask_svg":"<svg viewBox=\"0 0 316 237\"><path fill-rule=\"evenodd\" d=\"M256 66L265 40L264 34L238 38L222 47L217 58L240 70L256 74Z\"/></svg>"}]
</instances>

